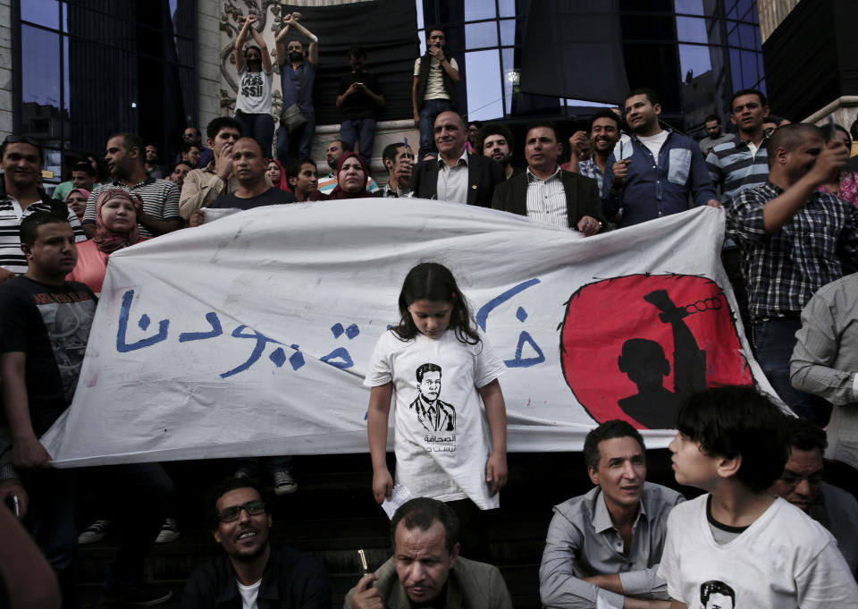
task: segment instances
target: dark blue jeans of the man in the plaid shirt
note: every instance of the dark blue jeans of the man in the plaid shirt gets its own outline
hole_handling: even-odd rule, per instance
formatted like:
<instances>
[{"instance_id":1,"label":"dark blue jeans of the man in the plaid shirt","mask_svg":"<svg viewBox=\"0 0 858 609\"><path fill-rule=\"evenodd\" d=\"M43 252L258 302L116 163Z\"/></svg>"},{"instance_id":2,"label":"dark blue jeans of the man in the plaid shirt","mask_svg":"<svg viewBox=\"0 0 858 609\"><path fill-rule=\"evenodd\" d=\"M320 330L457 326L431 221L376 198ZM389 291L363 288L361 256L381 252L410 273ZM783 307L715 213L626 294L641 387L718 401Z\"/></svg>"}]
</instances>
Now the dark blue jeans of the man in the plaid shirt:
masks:
<instances>
[{"instance_id":1,"label":"dark blue jeans of the man in the plaid shirt","mask_svg":"<svg viewBox=\"0 0 858 609\"><path fill-rule=\"evenodd\" d=\"M795 333L801 327L798 317L778 317L755 323L756 358L780 399L799 417L825 427L831 416L831 404L818 395L795 389L789 380L789 359L795 348Z\"/></svg>"}]
</instances>

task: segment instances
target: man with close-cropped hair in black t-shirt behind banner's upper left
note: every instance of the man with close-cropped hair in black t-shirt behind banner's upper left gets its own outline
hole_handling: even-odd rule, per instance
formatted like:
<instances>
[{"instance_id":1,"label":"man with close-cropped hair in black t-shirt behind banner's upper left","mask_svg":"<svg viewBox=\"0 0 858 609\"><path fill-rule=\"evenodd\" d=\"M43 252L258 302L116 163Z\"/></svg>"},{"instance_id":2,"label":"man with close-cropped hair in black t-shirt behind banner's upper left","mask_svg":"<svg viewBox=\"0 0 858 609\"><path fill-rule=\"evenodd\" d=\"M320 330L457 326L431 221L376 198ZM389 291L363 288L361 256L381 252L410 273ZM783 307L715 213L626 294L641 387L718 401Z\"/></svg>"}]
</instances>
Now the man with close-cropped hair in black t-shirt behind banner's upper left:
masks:
<instances>
[{"instance_id":1,"label":"man with close-cropped hair in black t-shirt behind banner's upper left","mask_svg":"<svg viewBox=\"0 0 858 609\"><path fill-rule=\"evenodd\" d=\"M264 205L294 203L298 199L286 190L269 186L265 182L265 155L259 142L253 138L240 138L232 147L232 173L239 182L235 192L214 199L213 209L253 209ZM206 219L206 211L198 209L190 216L190 226L199 226Z\"/></svg>"}]
</instances>

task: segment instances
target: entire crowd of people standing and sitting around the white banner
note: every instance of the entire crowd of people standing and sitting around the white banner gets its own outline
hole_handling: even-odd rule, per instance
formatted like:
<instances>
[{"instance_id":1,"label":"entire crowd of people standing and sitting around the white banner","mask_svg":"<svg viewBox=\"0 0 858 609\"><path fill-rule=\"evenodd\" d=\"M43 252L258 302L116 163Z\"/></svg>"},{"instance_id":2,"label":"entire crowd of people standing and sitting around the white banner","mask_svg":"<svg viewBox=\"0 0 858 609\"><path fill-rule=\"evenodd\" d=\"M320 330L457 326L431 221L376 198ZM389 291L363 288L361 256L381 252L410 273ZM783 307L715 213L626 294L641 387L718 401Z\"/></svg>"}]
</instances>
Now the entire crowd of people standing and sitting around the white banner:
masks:
<instances>
[{"instance_id":1,"label":"entire crowd of people standing and sitting around the white banner","mask_svg":"<svg viewBox=\"0 0 858 609\"><path fill-rule=\"evenodd\" d=\"M384 197L492 207L588 239L692 207L726 216L722 259L737 313L763 373L796 416L751 387L683 396L673 466L677 483L704 491L687 502L645 481L644 439L634 427L608 421L593 429L584 453L594 486L554 508L540 568L543 605L829 607L858 598L858 173L847 166L849 131L785 119L767 126L768 100L744 89L730 102L736 133L722 133L713 114L707 137L695 142L660 123L657 92L634 89L569 138L562 166L557 127L531 125L526 168L518 168L508 126L457 114L458 66L444 54L444 32L431 29L414 68L417 155L407 140L395 142L383 150L387 174L378 182L371 175L384 98L366 72L366 51L353 47L337 98L341 137L328 143L330 171L320 173L309 156L318 39L299 13L283 18L276 43L284 114L272 157L273 67L255 21L242 21L236 40L235 116L207 125L206 146L187 128L169 171L155 146L116 133L104 156L71 165L52 198L42 188L38 140L9 136L0 151L0 497L53 568L55 576L33 571L44 576L46 597L58 585L73 606L75 547L113 528L119 539L105 589L139 604L169 598L143 578L156 539L179 535L164 469L104 468L99 475L122 504L79 534L75 470L50 468L38 440L71 403L110 255L243 209ZM309 39L307 55L290 30ZM254 44L245 47L248 38ZM508 476L504 365L444 266L415 266L399 307L400 324L383 334L365 379L372 494L383 503L396 482L418 498L391 521L393 557L357 581L346 606L509 607L500 571L485 563L480 516L498 506ZM391 417L395 476L385 454ZM450 444L456 431L480 441L416 449L416 436L437 433L433 441ZM268 541L263 470L274 494L297 490L288 455L236 462L206 513L224 554L191 576L185 606L230 599L261 607L275 598L289 599L278 606L330 606L321 565ZM824 482L823 472L846 490ZM20 586L4 565L0 552L0 581L12 594Z\"/></svg>"}]
</instances>

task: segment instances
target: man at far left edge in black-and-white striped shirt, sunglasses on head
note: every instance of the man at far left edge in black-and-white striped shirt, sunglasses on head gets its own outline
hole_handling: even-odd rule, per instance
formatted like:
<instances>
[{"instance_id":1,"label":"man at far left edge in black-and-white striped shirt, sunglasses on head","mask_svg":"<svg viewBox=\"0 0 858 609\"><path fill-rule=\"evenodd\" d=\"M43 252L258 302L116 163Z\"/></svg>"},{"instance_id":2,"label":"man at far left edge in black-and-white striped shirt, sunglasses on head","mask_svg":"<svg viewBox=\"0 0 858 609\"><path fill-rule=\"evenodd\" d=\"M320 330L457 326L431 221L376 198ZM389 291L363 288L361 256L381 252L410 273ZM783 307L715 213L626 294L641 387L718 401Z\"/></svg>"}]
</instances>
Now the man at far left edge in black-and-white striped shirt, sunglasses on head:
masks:
<instances>
[{"instance_id":1,"label":"man at far left edge in black-and-white striped shirt, sunglasses on head","mask_svg":"<svg viewBox=\"0 0 858 609\"><path fill-rule=\"evenodd\" d=\"M21 251L21 220L37 211L67 216L75 241L86 241L80 220L62 201L52 201L40 190L42 147L38 140L10 135L0 148L3 180L0 181L0 283L27 272L27 257Z\"/></svg>"}]
</instances>

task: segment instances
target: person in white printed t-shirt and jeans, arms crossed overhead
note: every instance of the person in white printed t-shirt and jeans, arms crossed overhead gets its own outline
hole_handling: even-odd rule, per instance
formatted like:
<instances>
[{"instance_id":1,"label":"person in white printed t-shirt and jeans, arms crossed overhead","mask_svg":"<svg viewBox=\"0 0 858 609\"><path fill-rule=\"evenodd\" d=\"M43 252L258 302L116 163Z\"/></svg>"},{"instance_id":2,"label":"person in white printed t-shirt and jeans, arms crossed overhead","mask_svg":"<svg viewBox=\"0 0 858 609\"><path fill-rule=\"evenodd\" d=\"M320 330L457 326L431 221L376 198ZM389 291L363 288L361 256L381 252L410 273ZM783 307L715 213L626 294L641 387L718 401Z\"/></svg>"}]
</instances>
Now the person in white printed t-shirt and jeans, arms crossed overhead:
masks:
<instances>
[{"instance_id":1,"label":"person in white printed t-shirt and jeans, arms crossed overhead","mask_svg":"<svg viewBox=\"0 0 858 609\"><path fill-rule=\"evenodd\" d=\"M235 39L235 69L239 72L239 91L235 98L235 120L241 135L253 138L262 146L265 156L271 154L274 140L274 116L271 114L271 54L256 28L257 15L251 13L241 25ZM248 31L254 45L244 47Z\"/></svg>"}]
</instances>

